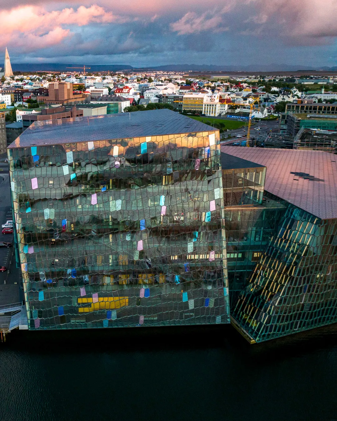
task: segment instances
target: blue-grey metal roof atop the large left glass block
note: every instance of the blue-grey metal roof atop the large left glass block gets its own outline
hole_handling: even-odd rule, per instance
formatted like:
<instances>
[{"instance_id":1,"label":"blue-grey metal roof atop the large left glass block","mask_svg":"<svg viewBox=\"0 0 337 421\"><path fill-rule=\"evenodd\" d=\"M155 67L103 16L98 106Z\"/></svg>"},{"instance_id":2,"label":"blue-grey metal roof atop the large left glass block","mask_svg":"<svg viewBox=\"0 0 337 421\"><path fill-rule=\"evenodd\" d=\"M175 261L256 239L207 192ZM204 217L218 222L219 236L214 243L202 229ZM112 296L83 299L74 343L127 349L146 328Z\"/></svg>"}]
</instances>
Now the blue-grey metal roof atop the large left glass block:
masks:
<instances>
[{"instance_id":1,"label":"blue-grey metal roof atop the large left glass block","mask_svg":"<svg viewBox=\"0 0 337 421\"><path fill-rule=\"evenodd\" d=\"M8 148L217 131L169 109L38 121Z\"/></svg>"}]
</instances>

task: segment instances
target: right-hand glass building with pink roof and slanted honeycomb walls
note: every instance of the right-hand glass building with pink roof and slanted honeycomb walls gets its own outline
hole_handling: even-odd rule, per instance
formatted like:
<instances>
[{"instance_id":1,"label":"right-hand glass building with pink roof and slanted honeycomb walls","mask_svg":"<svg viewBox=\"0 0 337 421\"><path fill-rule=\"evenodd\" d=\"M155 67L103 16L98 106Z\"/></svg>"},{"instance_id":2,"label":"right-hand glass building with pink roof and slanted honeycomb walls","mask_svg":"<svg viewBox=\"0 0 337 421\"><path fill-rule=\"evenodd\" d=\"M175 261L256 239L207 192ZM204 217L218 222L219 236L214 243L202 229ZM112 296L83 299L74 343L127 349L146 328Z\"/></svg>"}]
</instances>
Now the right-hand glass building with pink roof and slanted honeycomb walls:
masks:
<instances>
[{"instance_id":1,"label":"right-hand glass building with pink roof and slanted honeycomb walls","mask_svg":"<svg viewBox=\"0 0 337 421\"><path fill-rule=\"evenodd\" d=\"M233 325L255 343L337 322L336 160L327 152L224 149L265 165L265 198L284 208L233 306Z\"/></svg>"}]
</instances>

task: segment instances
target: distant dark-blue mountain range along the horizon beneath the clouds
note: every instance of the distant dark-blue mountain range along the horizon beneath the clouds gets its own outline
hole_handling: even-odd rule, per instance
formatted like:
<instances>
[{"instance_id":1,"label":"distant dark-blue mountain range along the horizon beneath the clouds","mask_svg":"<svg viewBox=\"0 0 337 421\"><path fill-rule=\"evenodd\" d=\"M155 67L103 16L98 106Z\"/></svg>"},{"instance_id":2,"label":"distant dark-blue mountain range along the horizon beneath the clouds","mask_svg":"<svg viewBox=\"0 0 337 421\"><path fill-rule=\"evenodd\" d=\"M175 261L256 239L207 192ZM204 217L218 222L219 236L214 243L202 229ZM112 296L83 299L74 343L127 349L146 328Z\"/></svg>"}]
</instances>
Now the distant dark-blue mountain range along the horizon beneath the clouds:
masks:
<instances>
[{"instance_id":1,"label":"distant dark-blue mountain range along the horizon beneath the clouds","mask_svg":"<svg viewBox=\"0 0 337 421\"><path fill-rule=\"evenodd\" d=\"M13 63L12 69L15 72L64 72L70 71L69 67L80 67L80 64L62 64L62 63ZM90 69L89 69L90 67ZM75 69L73 69L75 70ZM309 67L309 66L293 66L289 64L250 64L249 66L225 66L215 64L167 64L165 66L153 66L136 68L127 64L88 64L88 72L102 72L108 71L117 72L120 70L166 70L171 72L308 72L308 71L337 71L337 66L334 67ZM78 72L81 70L78 69Z\"/></svg>"}]
</instances>

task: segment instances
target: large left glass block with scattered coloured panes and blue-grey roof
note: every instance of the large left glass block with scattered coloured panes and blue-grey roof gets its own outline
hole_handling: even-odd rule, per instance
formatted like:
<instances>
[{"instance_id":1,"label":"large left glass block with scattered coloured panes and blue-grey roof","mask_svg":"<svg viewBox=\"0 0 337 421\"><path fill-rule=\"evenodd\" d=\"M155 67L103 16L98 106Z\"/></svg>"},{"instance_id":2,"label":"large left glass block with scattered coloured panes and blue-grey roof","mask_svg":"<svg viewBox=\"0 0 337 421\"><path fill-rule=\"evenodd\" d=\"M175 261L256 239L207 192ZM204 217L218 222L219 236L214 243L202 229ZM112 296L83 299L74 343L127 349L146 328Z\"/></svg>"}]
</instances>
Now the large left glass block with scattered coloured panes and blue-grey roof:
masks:
<instances>
[{"instance_id":1,"label":"large left glass block with scattered coloured panes and blue-grey roof","mask_svg":"<svg viewBox=\"0 0 337 421\"><path fill-rule=\"evenodd\" d=\"M29 329L228 323L219 131L167 109L8 147Z\"/></svg>"}]
</instances>

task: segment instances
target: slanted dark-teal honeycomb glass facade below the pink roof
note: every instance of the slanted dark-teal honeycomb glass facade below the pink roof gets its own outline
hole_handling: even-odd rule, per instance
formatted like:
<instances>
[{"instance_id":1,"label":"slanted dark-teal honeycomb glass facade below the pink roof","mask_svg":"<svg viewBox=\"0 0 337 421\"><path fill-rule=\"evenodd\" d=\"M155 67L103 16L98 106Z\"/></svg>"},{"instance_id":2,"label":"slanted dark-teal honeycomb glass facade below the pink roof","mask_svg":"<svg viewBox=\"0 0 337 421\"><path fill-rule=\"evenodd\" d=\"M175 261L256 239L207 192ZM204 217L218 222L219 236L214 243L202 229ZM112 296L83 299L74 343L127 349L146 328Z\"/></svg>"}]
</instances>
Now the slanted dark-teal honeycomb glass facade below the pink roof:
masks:
<instances>
[{"instance_id":1,"label":"slanted dark-teal honeycomb glass facade below the pink roof","mask_svg":"<svg viewBox=\"0 0 337 421\"><path fill-rule=\"evenodd\" d=\"M261 342L337 322L336 258L337 219L288 204L240 293L234 325Z\"/></svg>"}]
</instances>

